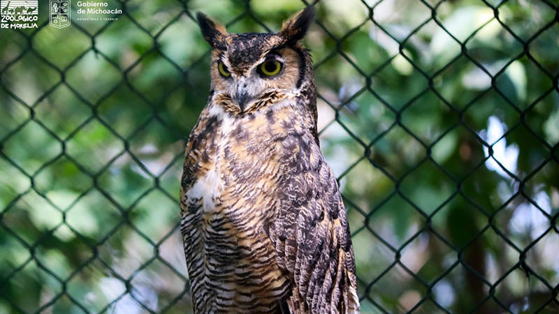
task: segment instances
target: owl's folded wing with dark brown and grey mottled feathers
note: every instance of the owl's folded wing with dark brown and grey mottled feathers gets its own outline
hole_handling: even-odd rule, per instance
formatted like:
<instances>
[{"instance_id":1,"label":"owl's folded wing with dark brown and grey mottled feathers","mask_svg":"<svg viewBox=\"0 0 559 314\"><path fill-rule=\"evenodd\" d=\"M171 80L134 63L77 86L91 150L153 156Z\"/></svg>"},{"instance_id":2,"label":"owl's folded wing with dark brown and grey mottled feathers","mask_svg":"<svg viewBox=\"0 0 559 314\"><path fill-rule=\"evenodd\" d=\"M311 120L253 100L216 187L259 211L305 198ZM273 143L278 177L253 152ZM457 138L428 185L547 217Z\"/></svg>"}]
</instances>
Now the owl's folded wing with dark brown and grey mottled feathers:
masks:
<instances>
[{"instance_id":1,"label":"owl's folded wing with dark brown and grey mottled feathers","mask_svg":"<svg viewBox=\"0 0 559 314\"><path fill-rule=\"evenodd\" d=\"M311 135L288 135L282 148L286 169L268 233L291 277L291 313L358 313L351 234L335 176Z\"/></svg>"}]
</instances>

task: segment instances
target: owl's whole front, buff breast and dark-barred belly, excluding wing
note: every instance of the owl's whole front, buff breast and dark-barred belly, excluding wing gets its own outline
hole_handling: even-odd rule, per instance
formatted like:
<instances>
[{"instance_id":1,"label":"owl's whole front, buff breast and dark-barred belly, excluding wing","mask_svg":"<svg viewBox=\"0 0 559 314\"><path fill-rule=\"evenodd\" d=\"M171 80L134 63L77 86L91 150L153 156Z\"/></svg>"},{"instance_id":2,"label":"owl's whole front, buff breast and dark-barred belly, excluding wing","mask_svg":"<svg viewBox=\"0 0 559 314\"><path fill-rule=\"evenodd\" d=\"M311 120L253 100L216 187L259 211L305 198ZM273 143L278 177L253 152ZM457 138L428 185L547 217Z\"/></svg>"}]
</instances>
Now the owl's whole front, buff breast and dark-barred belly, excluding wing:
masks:
<instances>
[{"instance_id":1,"label":"owl's whole front, buff breast and dark-barred belly, excluding wing","mask_svg":"<svg viewBox=\"0 0 559 314\"><path fill-rule=\"evenodd\" d=\"M197 179L182 183L188 210L181 231L194 299L216 313L227 308L277 313L279 299L289 293L289 279L266 234L279 206L275 188L286 127L297 128L288 119L291 100L282 101L243 117L210 105L194 130L187 160L188 171L196 172L190 177ZM203 293L213 286L220 287L220 295Z\"/></svg>"}]
</instances>

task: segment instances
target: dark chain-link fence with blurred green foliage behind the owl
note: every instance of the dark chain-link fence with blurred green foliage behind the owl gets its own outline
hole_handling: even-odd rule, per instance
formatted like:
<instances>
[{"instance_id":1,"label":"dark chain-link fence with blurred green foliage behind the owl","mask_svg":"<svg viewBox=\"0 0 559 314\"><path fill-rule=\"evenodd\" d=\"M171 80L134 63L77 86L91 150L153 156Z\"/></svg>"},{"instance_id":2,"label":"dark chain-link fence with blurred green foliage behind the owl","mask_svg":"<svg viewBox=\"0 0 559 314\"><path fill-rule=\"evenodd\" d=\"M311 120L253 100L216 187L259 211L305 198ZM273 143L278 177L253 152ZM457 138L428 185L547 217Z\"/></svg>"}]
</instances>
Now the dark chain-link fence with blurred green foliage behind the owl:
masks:
<instances>
[{"instance_id":1,"label":"dark chain-link fence with blurred green foliage behind the owl","mask_svg":"<svg viewBox=\"0 0 559 314\"><path fill-rule=\"evenodd\" d=\"M277 31L309 3L73 0L59 28L52 3L9 2L3 24L38 20L0 29L0 313L190 313L194 14ZM362 312L558 313L558 3L316 5L305 43Z\"/></svg>"}]
</instances>

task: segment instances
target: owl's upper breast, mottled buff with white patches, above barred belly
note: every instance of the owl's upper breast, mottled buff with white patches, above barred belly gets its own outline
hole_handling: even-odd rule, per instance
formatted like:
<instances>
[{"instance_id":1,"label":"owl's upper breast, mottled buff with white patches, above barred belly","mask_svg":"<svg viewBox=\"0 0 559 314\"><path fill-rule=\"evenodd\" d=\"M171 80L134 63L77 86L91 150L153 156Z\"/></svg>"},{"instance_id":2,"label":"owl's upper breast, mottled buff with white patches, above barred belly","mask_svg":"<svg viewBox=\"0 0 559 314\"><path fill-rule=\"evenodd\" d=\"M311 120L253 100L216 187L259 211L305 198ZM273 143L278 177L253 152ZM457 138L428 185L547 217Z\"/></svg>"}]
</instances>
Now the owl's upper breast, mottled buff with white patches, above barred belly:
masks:
<instances>
[{"instance_id":1,"label":"owl's upper breast, mottled buff with white patches, above barred belly","mask_svg":"<svg viewBox=\"0 0 559 314\"><path fill-rule=\"evenodd\" d=\"M203 214L247 211L273 187L278 171L270 126L254 114L239 118L217 106L208 112L205 124L211 132L198 134L187 154L198 173L186 196L200 200Z\"/></svg>"}]
</instances>

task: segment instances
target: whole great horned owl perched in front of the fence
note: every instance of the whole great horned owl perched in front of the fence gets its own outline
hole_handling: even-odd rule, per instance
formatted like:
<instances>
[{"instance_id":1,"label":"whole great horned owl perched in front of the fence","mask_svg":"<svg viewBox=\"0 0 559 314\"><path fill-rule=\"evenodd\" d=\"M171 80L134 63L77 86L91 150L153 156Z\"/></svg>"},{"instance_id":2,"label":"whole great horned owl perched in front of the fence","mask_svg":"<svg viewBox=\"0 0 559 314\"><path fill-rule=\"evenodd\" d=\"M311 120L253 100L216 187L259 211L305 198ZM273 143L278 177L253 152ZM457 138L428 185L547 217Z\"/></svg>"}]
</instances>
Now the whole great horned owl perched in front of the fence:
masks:
<instances>
[{"instance_id":1,"label":"whole great horned owl perched in front of the fence","mask_svg":"<svg viewBox=\"0 0 559 314\"><path fill-rule=\"evenodd\" d=\"M317 135L307 7L279 33L205 15L208 105L182 174L181 232L197 313L357 313L354 252Z\"/></svg>"}]
</instances>

